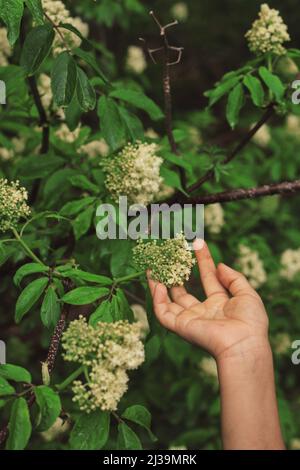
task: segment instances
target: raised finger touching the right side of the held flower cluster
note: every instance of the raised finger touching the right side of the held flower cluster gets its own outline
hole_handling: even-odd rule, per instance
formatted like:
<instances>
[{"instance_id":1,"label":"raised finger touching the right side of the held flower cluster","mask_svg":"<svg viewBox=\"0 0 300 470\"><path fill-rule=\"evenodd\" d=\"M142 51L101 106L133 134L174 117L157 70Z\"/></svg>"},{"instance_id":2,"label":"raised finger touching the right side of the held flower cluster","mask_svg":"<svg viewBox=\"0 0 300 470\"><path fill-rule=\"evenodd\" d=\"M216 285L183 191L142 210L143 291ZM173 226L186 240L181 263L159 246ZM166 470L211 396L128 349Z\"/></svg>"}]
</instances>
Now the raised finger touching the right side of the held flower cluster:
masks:
<instances>
[{"instance_id":1,"label":"raised finger touching the right side of the held flower cluster","mask_svg":"<svg viewBox=\"0 0 300 470\"><path fill-rule=\"evenodd\" d=\"M198 261L200 278L207 297L214 294L225 294L226 290L217 277L217 269L207 244L203 241L199 249L199 240L194 243L195 255Z\"/></svg>"}]
</instances>

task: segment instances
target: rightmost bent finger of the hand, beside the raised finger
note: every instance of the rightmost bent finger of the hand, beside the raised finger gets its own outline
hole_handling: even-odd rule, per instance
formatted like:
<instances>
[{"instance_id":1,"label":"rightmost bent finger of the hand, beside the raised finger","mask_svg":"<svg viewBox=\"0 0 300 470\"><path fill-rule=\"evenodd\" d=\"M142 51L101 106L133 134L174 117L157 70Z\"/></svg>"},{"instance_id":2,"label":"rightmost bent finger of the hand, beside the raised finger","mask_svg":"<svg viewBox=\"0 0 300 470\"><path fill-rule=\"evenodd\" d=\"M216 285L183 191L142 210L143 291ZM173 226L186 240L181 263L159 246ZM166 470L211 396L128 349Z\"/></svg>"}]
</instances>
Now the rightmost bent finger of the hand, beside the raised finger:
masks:
<instances>
[{"instance_id":1,"label":"rightmost bent finger of the hand, beside the raised finger","mask_svg":"<svg viewBox=\"0 0 300 470\"><path fill-rule=\"evenodd\" d=\"M226 264L219 264L217 276L223 286L228 289L233 296L250 294L259 297L245 276Z\"/></svg>"}]
</instances>

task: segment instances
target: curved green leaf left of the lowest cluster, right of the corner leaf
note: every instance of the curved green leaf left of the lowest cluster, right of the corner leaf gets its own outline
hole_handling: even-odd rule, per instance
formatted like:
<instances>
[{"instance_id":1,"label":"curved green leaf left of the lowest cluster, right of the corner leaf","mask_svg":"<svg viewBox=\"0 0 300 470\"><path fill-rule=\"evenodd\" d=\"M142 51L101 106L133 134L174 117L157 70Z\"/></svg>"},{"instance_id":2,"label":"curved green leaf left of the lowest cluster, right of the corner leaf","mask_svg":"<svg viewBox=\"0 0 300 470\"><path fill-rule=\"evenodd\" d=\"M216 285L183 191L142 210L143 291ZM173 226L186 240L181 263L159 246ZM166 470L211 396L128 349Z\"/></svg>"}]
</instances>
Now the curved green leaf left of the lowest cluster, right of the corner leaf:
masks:
<instances>
[{"instance_id":1,"label":"curved green leaf left of the lowest cluster, right of the corner leaf","mask_svg":"<svg viewBox=\"0 0 300 470\"><path fill-rule=\"evenodd\" d=\"M60 415L61 402L59 395L46 385L35 387L34 394L40 411L37 431L47 431Z\"/></svg>"}]
</instances>

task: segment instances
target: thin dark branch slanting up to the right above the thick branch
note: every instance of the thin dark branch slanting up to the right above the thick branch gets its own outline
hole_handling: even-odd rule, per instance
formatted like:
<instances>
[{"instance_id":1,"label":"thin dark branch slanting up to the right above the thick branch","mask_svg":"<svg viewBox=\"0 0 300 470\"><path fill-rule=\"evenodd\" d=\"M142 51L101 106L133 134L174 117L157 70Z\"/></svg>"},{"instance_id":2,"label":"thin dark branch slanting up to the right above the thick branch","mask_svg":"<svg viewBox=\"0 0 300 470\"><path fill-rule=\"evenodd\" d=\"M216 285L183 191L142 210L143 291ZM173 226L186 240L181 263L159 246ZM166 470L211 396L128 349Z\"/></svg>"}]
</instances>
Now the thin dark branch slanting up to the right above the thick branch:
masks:
<instances>
[{"instance_id":1,"label":"thin dark branch slanting up to the right above the thick branch","mask_svg":"<svg viewBox=\"0 0 300 470\"><path fill-rule=\"evenodd\" d=\"M271 116L274 114L274 106L271 104L262 118L255 124L255 126L250 129L250 131L245 135L245 137L239 142L239 144L233 149L231 153L225 158L224 164L231 162L236 155L250 142L252 137L259 131L259 129L270 119ZM198 181L192 184L189 188L187 188L188 193L192 193L196 189L200 188L206 181L211 180L214 177L214 171L209 170L205 175L203 175Z\"/></svg>"}]
</instances>

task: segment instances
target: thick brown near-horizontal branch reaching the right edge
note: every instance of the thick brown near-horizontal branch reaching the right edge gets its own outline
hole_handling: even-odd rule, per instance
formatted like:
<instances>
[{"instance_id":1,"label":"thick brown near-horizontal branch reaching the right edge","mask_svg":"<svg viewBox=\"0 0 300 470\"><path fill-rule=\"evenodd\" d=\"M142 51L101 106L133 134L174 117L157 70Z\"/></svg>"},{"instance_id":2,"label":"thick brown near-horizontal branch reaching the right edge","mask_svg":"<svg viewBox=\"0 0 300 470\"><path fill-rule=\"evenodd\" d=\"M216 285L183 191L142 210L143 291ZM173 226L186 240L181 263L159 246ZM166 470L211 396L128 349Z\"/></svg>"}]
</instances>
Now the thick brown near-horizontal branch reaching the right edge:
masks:
<instances>
[{"instance_id":1,"label":"thick brown near-horizontal branch reaching the right edge","mask_svg":"<svg viewBox=\"0 0 300 470\"><path fill-rule=\"evenodd\" d=\"M256 199L258 197L272 196L274 194L287 195L297 192L300 192L300 180L265 184L264 186L251 189L232 189L230 191L187 198L184 202L190 204L215 204L216 202L241 201L243 199Z\"/></svg>"}]
</instances>

